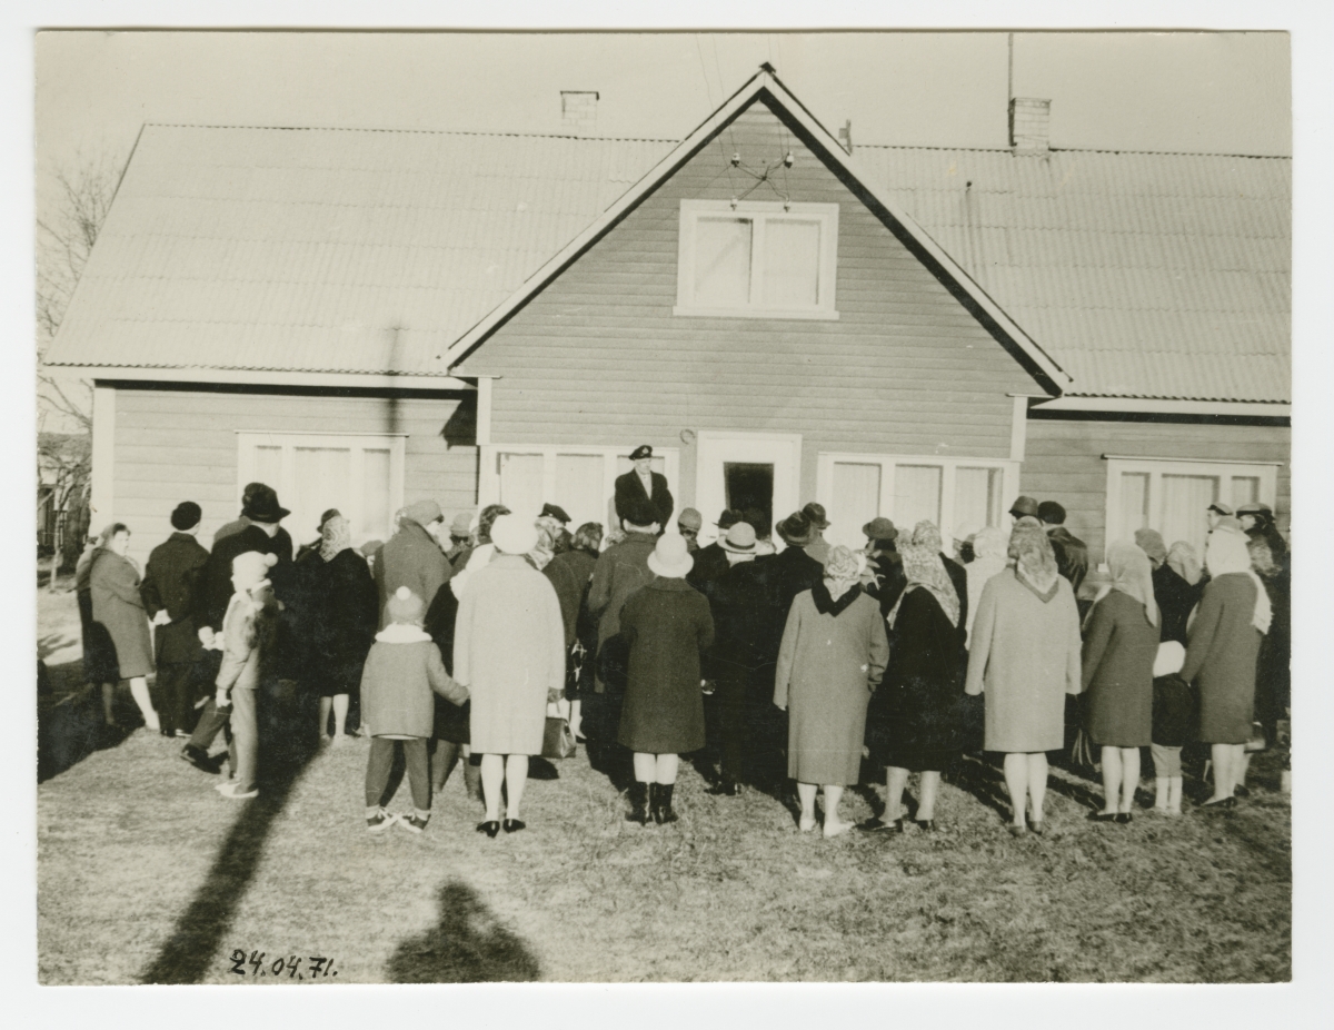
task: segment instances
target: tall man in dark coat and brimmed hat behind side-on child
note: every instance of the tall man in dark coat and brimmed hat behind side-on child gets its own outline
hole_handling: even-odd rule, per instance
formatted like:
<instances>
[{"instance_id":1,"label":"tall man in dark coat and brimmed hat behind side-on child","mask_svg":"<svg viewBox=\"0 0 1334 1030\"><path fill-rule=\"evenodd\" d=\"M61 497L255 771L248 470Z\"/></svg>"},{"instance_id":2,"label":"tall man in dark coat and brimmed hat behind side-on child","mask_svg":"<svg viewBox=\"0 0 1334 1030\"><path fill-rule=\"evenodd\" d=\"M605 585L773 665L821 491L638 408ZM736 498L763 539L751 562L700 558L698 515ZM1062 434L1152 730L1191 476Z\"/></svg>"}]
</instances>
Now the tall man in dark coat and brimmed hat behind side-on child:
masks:
<instances>
[{"instance_id":1,"label":"tall man in dark coat and brimmed hat behind side-on child","mask_svg":"<svg viewBox=\"0 0 1334 1030\"><path fill-rule=\"evenodd\" d=\"M227 606L232 599L232 559L248 551L271 554L277 558L277 564L269 570L269 579L273 583L273 595L279 602L287 600L284 594L291 595L289 576L292 568L292 538L283 532L279 524L291 512L277 503L277 494L263 483L252 483L259 490L253 491L241 510L245 520L237 532L229 532L216 539L213 551L204 566L201 607L196 607L196 620L199 622L199 642L204 647L204 672L211 684L223 662L221 631L223 618L227 615ZM249 490L249 487L247 487ZM285 547L279 534L285 538ZM281 588L281 592L280 592ZM217 772L217 766L208 758L208 748L213 743L227 720L231 708L219 708L211 695L204 706L195 732L189 742L181 748L180 756L196 768L205 772Z\"/></svg>"}]
</instances>

